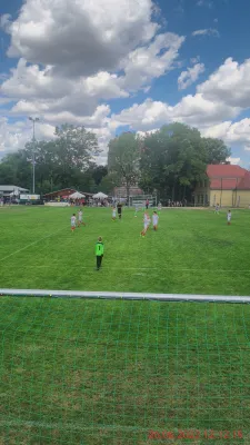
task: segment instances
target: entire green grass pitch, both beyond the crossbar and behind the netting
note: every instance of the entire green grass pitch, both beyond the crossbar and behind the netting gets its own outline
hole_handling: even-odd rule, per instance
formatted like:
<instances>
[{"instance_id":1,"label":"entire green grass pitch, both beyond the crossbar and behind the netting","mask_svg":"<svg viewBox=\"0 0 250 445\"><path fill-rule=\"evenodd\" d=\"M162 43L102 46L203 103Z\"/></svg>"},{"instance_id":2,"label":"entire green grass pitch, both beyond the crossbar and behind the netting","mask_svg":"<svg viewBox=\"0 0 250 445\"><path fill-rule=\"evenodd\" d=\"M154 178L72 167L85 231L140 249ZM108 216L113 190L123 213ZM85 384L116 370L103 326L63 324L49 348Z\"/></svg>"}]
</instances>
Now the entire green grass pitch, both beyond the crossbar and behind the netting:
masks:
<instances>
[{"instance_id":1,"label":"entire green grass pitch, both beyond the crossbar and behind the netting","mask_svg":"<svg viewBox=\"0 0 250 445\"><path fill-rule=\"evenodd\" d=\"M71 212L0 209L1 287L250 294L247 210L230 227L226 212L163 210L144 239L130 210L112 222L86 209L76 234ZM0 445L250 443L249 305L1 297L0 308Z\"/></svg>"}]
</instances>

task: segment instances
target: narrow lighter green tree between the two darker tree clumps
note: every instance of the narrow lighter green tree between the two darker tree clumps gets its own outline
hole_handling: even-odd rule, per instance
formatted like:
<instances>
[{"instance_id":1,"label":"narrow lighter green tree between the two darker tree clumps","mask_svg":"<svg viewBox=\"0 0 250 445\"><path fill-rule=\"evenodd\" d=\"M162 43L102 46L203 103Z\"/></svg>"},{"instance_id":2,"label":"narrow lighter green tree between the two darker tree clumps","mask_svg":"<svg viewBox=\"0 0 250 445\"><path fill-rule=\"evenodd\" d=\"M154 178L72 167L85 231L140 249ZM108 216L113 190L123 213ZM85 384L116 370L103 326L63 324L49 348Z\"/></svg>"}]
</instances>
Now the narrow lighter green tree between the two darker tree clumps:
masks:
<instances>
[{"instance_id":1,"label":"narrow lighter green tree between the two darker tree clumps","mask_svg":"<svg viewBox=\"0 0 250 445\"><path fill-rule=\"evenodd\" d=\"M123 132L109 142L108 169L124 184L127 197L139 179L140 147L140 139L132 132Z\"/></svg>"}]
</instances>

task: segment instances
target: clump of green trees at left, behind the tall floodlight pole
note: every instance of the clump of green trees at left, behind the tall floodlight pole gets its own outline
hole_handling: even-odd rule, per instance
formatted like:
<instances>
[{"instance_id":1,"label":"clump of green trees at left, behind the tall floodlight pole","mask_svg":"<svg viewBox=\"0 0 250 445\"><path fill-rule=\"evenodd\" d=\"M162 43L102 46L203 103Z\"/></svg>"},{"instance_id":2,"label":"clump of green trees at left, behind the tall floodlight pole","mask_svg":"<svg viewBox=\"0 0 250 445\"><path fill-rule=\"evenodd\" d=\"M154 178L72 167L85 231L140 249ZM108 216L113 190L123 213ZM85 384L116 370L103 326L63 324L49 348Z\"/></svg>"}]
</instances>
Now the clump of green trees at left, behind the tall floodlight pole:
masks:
<instances>
[{"instance_id":1,"label":"clump of green trees at left, behind the tall floodlight pole","mask_svg":"<svg viewBox=\"0 0 250 445\"><path fill-rule=\"evenodd\" d=\"M92 158L99 152L94 134L84 128L63 125L50 141L28 142L22 150L0 161L0 182L31 189L32 157L36 159L36 190L40 194L64 187L90 191L97 188L107 169Z\"/></svg>"}]
</instances>

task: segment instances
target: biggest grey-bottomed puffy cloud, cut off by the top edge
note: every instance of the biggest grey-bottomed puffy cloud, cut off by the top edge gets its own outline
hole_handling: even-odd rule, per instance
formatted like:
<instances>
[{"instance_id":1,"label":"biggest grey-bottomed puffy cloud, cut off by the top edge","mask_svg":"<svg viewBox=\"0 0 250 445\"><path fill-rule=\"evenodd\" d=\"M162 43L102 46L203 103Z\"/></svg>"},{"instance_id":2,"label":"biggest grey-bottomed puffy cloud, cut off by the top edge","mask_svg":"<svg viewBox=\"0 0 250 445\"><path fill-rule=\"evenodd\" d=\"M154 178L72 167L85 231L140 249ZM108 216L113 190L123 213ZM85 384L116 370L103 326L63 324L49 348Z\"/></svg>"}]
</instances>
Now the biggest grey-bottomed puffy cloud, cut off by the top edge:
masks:
<instances>
[{"instance_id":1,"label":"biggest grey-bottomed puffy cloud, cut off by the top edge","mask_svg":"<svg viewBox=\"0 0 250 445\"><path fill-rule=\"evenodd\" d=\"M8 55L61 76L113 70L156 34L152 12L151 0L27 0L10 26Z\"/></svg>"}]
</instances>

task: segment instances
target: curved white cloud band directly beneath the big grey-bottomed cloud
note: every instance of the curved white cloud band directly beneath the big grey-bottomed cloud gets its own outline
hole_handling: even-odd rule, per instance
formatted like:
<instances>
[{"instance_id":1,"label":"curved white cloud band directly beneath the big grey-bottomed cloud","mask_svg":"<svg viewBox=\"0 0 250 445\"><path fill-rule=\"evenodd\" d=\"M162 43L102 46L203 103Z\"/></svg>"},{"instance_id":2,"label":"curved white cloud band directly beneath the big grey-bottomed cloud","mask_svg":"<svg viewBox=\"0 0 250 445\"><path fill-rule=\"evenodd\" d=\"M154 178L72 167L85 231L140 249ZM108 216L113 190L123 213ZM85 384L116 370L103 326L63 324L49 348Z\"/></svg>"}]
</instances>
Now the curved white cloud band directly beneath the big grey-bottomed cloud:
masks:
<instances>
[{"instance_id":1,"label":"curved white cloud band directly beneath the big grey-bottomed cloud","mask_svg":"<svg viewBox=\"0 0 250 445\"><path fill-rule=\"evenodd\" d=\"M81 115L82 110L93 112L98 101L126 98L157 77L173 68L178 50L184 41L174 33L159 34L148 47L139 47L121 60L121 76L99 71L89 77L66 78L51 73L51 67L41 69L28 65L21 58L11 77L2 82L4 96L26 98L13 109L14 112L33 112L44 109L70 110Z\"/></svg>"}]
</instances>

